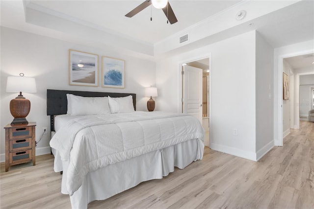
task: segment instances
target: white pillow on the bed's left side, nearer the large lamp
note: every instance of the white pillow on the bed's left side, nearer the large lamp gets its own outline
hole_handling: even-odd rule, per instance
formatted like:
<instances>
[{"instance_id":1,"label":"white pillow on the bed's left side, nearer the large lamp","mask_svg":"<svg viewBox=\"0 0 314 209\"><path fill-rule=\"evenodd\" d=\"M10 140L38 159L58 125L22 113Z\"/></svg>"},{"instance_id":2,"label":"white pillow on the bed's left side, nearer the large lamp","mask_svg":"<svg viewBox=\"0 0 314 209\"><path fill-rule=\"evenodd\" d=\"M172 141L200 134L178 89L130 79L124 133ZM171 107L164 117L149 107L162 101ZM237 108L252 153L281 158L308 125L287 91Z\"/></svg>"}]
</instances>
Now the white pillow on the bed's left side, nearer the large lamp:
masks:
<instances>
[{"instance_id":1,"label":"white pillow on the bed's left side, nearer the large lamp","mask_svg":"<svg viewBox=\"0 0 314 209\"><path fill-rule=\"evenodd\" d=\"M73 94L69 94L69 97L71 116L110 114L108 97L84 97ZM69 109L67 113L69 114Z\"/></svg>"}]
</instances>

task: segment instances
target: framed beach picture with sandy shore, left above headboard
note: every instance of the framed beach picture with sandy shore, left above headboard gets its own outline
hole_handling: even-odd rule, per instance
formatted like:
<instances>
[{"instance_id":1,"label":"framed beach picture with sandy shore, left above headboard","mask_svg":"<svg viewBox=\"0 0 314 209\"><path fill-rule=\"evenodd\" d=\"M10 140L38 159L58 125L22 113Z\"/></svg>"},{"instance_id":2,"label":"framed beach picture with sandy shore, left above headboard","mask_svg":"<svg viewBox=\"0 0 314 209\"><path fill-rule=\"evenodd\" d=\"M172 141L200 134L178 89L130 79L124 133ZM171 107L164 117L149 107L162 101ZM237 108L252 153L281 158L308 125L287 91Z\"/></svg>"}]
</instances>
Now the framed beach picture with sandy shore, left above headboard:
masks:
<instances>
[{"instance_id":1,"label":"framed beach picture with sandy shore, left above headboard","mask_svg":"<svg viewBox=\"0 0 314 209\"><path fill-rule=\"evenodd\" d=\"M98 86L98 55L69 49L69 85Z\"/></svg>"}]
</instances>

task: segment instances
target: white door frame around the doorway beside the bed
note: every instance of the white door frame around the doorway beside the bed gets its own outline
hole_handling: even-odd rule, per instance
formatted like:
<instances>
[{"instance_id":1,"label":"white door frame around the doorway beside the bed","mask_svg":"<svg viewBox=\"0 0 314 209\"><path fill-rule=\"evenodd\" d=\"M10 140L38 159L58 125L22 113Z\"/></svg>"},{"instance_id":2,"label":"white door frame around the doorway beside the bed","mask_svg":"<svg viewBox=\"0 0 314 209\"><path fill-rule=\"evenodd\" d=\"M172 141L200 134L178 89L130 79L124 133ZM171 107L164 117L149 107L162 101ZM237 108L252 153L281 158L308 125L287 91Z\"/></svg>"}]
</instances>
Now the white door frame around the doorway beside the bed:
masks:
<instances>
[{"instance_id":1,"label":"white door frame around the doorway beside the bed","mask_svg":"<svg viewBox=\"0 0 314 209\"><path fill-rule=\"evenodd\" d=\"M199 56L195 56L195 57L190 57L190 58L186 58L186 59L183 59L181 61L178 62L178 79L179 79L179 88L178 88L178 94L179 95L179 99L178 99L178 107L180 107L180 110L179 110L179 113L182 113L183 111L183 105L182 105L182 102L181 102L181 99L182 99L182 95L183 95L183 80L182 80L182 65L184 63L190 63L190 62L195 62L197 60L201 60L201 59L206 59L208 58L209 59L209 147L210 147L210 139L212 139L212 129L211 129L211 120L212 120L212 116L211 116L211 113L212 113L212 58L211 58L211 52L208 53L208 54L202 54L202 55L199 55Z\"/></svg>"}]
</instances>

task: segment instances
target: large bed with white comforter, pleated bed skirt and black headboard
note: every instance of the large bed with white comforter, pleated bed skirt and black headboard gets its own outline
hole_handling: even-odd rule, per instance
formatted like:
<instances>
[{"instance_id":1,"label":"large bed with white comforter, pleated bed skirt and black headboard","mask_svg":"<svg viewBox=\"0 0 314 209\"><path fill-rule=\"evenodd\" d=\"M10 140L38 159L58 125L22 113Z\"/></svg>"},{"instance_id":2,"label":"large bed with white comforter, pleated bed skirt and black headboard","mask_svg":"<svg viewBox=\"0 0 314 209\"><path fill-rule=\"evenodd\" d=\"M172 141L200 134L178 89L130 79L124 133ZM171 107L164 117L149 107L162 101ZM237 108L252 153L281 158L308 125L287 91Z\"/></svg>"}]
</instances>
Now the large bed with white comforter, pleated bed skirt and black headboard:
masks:
<instances>
[{"instance_id":1,"label":"large bed with white comforter, pleated bed skirt and black headboard","mask_svg":"<svg viewBox=\"0 0 314 209\"><path fill-rule=\"evenodd\" d=\"M47 90L54 171L63 172L61 193L72 208L202 159L205 134L196 118L135 110L133 93Z\"/></svg>"}]
</instances>

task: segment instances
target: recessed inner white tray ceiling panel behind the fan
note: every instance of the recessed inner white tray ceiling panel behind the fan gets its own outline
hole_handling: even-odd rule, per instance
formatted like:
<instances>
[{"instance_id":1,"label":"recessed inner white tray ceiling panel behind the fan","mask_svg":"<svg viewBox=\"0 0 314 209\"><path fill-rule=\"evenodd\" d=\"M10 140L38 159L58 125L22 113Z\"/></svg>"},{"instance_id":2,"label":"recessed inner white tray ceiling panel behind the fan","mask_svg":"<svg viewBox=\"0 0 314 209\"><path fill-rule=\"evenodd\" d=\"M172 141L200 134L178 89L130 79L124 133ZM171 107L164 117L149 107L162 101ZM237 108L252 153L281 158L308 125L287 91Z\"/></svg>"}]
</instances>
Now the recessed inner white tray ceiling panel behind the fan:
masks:
<instances>
[{"instance_id":1,"label":"recessed inner white tray ceiling panel behind the fan","mask_svg":"<svg viewBox=\"0 0 314 209\"><path fill-rule=\"evenodd\" d=\"M144 0L30 0L27 7L61 16L69 20L84 22L100 30L130 36L155 44L191 25L234 6L240 0L170 0L178 19L177 23L166 23L161 9L145 8L132 18L125 17ZM153 21L150 18L153 18Z\"/></svg>"}]
</instances>

